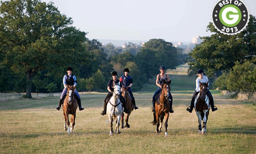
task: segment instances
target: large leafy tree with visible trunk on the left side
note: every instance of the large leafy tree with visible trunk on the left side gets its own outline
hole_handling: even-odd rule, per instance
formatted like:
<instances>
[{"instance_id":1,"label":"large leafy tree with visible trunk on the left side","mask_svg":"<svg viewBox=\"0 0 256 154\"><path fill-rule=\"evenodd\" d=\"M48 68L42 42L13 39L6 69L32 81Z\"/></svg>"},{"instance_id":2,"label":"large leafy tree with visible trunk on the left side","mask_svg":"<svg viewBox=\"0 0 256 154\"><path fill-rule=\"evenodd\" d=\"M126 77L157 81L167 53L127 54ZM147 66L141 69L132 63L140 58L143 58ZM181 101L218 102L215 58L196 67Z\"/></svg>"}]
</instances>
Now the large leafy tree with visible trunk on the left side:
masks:
<instances>
[{"instance_id":1,"label":"large leafy tree with visible trunk on the left side","mask_svg":"<svg viewBox=\"0 0 256 154\"><path fill-rule=\"evenodd\" d=\"M1 1L1 63L27 76L26 96L31 98L33 77L45 68L61 76L66 65L86 59L82 43L86 33L72 27L72 19L50 2L40 0Z\"/></svg>"}]
</instances>

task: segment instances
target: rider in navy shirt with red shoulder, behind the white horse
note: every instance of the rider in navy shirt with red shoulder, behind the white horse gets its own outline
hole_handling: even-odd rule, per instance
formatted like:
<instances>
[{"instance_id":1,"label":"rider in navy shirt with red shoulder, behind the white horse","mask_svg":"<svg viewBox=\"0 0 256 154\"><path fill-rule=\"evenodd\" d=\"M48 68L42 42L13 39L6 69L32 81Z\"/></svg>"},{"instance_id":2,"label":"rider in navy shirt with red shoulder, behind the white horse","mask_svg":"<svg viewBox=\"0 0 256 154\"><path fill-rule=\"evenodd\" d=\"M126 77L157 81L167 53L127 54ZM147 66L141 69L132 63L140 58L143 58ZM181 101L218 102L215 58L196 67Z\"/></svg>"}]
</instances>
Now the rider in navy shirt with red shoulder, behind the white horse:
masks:
<instances>
[{"instance_id":1,"label":"rider in navy shirt with red shoulder, behind the white horse","mask_svg":"<svg viewBox=\"0 0 256 154\"><path fill-rule=\"evenodd\" d=\"M131 88L132 85L133 85L133 81L132 81L132 77L128 75L129 73L130 73L129 68L125 68L124 69L124 75L122 75L119 78L119 81L121 81L125 87L129 87L128 92L129 92L129 94L132 98L132 104L134 105L134 109L137 110L138 107L135 104L135 99L134 99L134 96L132 94L132 88Z\"/></svg>"}]
</instances>

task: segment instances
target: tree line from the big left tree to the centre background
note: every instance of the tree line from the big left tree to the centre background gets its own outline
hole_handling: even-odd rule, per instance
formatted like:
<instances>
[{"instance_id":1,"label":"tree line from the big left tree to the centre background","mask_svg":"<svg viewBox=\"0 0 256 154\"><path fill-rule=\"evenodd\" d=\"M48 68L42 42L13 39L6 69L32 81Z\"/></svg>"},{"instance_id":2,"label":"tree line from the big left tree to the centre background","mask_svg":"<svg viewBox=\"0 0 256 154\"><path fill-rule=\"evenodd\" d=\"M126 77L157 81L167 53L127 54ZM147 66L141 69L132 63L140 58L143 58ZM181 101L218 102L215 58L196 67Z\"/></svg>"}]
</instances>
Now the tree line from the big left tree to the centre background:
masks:
<instances>
[{"instance_id":1,"label":"tree line from the big left tree to the centre background","mask_svg":"<svg viewBox=\"0 0 256 154\"><path fill-rule=\"evenodd\" d=\"M139 90L160 65L175 68L184 62L182 49L163 39L143 47L128 43L125 49L89 40L72 26L52 2L1 1L0 92L59 92L67 67L77 76L78 91L105 91L111 72L129 68L133 89Z\"/></svg>"}]
</instances>

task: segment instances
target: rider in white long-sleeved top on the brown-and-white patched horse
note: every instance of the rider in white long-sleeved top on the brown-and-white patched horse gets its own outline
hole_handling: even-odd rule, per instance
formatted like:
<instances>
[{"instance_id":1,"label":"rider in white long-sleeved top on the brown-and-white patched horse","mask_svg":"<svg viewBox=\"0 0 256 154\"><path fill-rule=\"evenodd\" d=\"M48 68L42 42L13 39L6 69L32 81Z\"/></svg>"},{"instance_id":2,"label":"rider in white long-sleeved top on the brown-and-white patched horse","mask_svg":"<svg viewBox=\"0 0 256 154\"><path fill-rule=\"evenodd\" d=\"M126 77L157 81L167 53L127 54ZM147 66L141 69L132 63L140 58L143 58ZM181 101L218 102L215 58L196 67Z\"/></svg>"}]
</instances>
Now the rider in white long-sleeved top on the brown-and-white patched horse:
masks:
<instances>
[{"instance_id":1,"label":"rider in white long-sleeved top on the brown-and-white patched horse","mask_svg":"<svg viewBox=\"0 0 256 154\"><path fill-rule=\"evenodd\" d=\"M200 92L200 84L199 83L200 82L201 83L207 83L208 82L208 86L210 85L210 82L209 82L207 76L204 76L203 73L204 73L204 71L202 69L197 70L198 78L196 79L196 89L195 89L195 92L193 93L190 106L187 108L187 111L190 112L190 113L192 113L192 111L193 111L195 98L197 97L198 93ZM218 108L216 106L214 106L212 93L210 92L210 90L208 88L207 88L207 96L210 99L210 105L211 105L211 108L212 108L212 112L218 110Z\"/></svg>"}]
</instances>

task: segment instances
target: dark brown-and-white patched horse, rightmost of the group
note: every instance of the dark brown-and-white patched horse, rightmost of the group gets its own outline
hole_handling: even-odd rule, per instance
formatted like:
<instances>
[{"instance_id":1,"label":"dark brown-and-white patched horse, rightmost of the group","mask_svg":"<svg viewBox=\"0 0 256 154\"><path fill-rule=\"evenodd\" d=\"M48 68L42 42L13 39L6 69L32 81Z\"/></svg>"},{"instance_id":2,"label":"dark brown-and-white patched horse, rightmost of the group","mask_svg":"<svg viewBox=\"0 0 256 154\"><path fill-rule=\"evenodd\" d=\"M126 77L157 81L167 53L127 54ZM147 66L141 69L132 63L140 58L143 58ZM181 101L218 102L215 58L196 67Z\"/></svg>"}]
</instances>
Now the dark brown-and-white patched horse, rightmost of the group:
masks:
<instances>
[{"instance_id":1,"label":"dark brown-and-white patched horse, rightmost of the group","mask_svg":"<svg viewBox=\"0 0 256 154\"><path fill-rule=\"evenodd\" d=\"M207 96L207 87L208 87L208 82L207 83L199 83L200 85L200 93L198 93L195 102L194 102L194 106L195 106L195 111L197 114L197 118L198 118L198 133L206 133L206 123L208 120L208 115L209 115L209 111L211 108L210 105L210 99L209 96ZM203 121L203 128L202 128L202 121Z\"/></svg>"}]
</instances>

